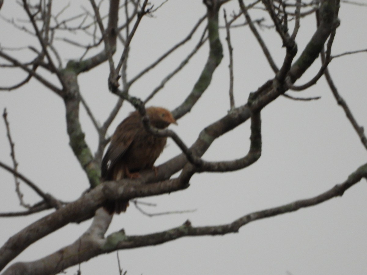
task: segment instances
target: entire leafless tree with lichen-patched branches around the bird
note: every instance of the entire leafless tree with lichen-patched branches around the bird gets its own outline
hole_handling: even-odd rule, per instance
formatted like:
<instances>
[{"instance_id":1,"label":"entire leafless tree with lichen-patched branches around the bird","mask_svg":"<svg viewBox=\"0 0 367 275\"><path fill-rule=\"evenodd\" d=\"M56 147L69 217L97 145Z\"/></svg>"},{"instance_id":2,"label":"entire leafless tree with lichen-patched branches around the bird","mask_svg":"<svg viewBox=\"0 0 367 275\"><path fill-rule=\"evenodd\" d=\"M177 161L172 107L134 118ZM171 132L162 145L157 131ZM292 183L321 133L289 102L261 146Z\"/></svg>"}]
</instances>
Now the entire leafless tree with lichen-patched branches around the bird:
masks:
<instances>
[{"instance_id":1,"label":"entire leafless tree with lichen-patched branches around the bird","mask_svg":"<svg viewBox=\"0 0 367 275\"><path fill-rule=\"evenodd\" d=\"M195 227L186 221L176 228L147 235L130 236L123 230L105 235L112 216L109 216L101 205L109 199L136 199L174 191L183 191L189 188L190 179L197 173L231 172L245 169L254 164L261 157L262 136L260 114L263 108L274 100L285 96L291 100L314 100L317 98L302 98L287 94L288 91L303 91L315 85L321 77L326 77L337 103L344 109L346 116L353 125L362 145L367 149L366 136L363 128L357 124L346 102L338 94L337 88L328 72L328 65L337 56L331 55L331 48L335 33L338 30L340 0L204 0L206 14L193 23L190 33L183 37L177 44L167 48L167 51L156 57L156 61L142 69L134 77L128 77L128 60L130 45L134 35L139 30L139 24L146 17L154 17L155 12L164 5L152 5L148 0L110 0L108 11L103 13L101 8L106 5L103 1L96 3L89 0L87 7L73 11L68 15L68 5L62 10L55 10L51 0L19 1L27 15L27 20L13 21L3 15L3 21L12 24L14 28L22 29L24 35L37 39L37 45L21 49L27 52L27 60L17 56L17 52L8 48L0 48L2 60L1 69L14 68L25 72L23 79L9 87L0 87L3 91L13 91L27 85L30 80L37 80L48 90L55 93L65 104L67 133L70 148L79 161L81 168L86 173L90 190L80 195L73 202L63 202L55 195L47 194L36 183L33 183L17 169L14 154L14 141L11 137L11 127L6 110L3 118L11 144L11 158L13 165L3 161L0 166L14 175L16 185L19 181L28 184L40 197L41 201L34 205L27 205L22 200L22 194L17 189L18 197L26 208L22 212L0 213L1 217L15 217L54 209L50 214L29 224L21 231L9 236L8 241L0 247L0 270L3 270L10 261L14 260L23 250L48 234L70 223L80 223L93 219L90 228L75 242L61 247L57 252L43 255L39 260L10 265L3 274L57 274L64 269L87 261L103 253L111 253L121 249L150 246L169 242L183 236L224 235L237 232L244 225L266 217L288 213L300 208L317 205L336 196L341 196L348 188L359 183L367 177L367 164L351 171L350 176L336 184L330 190L275 208L265 209L249 214L243 214L229 224ZM0 7L3 1L0 2ZM5 1L6 2L6 1ZM228 4L237 4L237 12L226 14ZM223 14L225 24L219 24L219 15ZM257 18L251 18L252 11L256 11ZM260 15L260 16L258 16ZM296 38L299 27L305 18L316 18L316 31L304 48L298 48ZM257 91L251 92L245 104L236 105L233 88L233 62L236 62L232 52L231 34L233 29L249 28L258 41L259 47L273 71L273 77L265 83L259 83ZM269 51L268 45L262 39L261 28L270 28L277 33L282 41L284 55L281 64L277 64ZM226 33L226 41L219 37L220 29ZM194 35L201 32L200 35ZM132 85L157 69L163 60L170 58L171 54L180 49L182 45L196 37L196 46L187 53L179 65L161 80L161 84L153 89L146 98L130 93ZM197 38L199 37L199 38ZM60 43L75 48L80 53L78 58L73 58L64 64L63 60L69 53L60 50ZM2 45L3 46L3 45ZM143 116L145 104L159 93L172 77L181 72L188 61L193 58L202 46L208 47L208 57L199 75L189 76L195 78L196 83L188 92L181 104L172 110L176 120L189 113L195 107L201 95L211 83L213 74L221 64L223 51L228 50L229 63L229 111L216 121L212 121L202 129L197 139L192 144L185 144L185 138L177 135L170 129L158 130L144 120L147 131L154 135L168 136L181 149L181 154L172 157L159 166L157 174L153 171L144 171L138 179L124 179L101 183L100 164L103 150L109 142L107 131L123 102L132 104ZM147 48L148 50L148 48ZM365 50L364 50L365 51ZM295 60L297 53L299 57ZM346 53L348 54L348 53ZM309 67L320 59L319 72L310 78L306 84L299 84L297 80L304 75ZM106 91L116 95L115 107L110 110L110 115L99 124L93 111L88 106L79 88L79 76L90 72L93 68L104 63L108 64L109 77L106 81ZM225 65L224 65L225 66ZM246 89L244 89L246 91ZM249 91L247 91L249 92ZM98 133L99 143L95 153L87 144L80 122L80 108L84 108ZM250 121L251 136L248 153L238 159L230 161L206 161L202 158L211 144L220 136L225 135L237 126ZM172 177L178 173L178 176ZM124 188L119 188L123 186ZM45 264L47 263L47 264ZM122 273L122 269L120 268Z\"/></svg>"}]
</instances>

